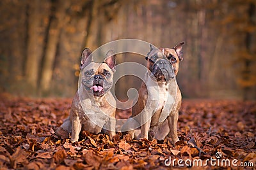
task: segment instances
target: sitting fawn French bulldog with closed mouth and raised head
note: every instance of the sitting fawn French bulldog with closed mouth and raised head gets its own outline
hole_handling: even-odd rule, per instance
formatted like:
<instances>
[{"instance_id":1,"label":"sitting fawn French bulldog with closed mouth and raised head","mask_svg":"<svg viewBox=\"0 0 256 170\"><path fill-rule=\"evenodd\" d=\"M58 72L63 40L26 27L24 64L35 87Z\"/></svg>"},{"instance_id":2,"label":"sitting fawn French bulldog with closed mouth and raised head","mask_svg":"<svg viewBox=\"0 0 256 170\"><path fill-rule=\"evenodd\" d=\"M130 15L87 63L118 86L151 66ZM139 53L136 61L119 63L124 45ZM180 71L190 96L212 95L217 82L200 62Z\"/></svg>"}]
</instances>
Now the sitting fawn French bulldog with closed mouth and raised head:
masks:
<instances>
[{"instance_id":1,"label":"sitting fawn French bulldog with closed mouth and raised head","mask_svg":"<svg viewBox=\"0 0 256 170\"><path fill-rule=\"evenodd\" d=\"M177 121L181 93L175 76L179 71L179 62L183 60L182 45L184 42L174 48L150 45L150 52L145 57L148 73L141 84L138 101L132 107L132 116L122 128L129 129L132 138L163 140L170 136L173 145L179 141ZM139 131L134 131L138 125L141 125Z\"/></svg>"}]
</instances>

